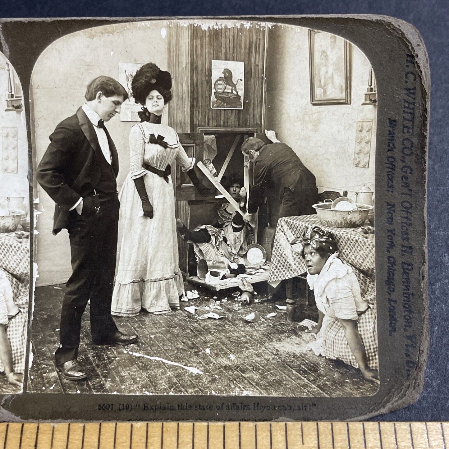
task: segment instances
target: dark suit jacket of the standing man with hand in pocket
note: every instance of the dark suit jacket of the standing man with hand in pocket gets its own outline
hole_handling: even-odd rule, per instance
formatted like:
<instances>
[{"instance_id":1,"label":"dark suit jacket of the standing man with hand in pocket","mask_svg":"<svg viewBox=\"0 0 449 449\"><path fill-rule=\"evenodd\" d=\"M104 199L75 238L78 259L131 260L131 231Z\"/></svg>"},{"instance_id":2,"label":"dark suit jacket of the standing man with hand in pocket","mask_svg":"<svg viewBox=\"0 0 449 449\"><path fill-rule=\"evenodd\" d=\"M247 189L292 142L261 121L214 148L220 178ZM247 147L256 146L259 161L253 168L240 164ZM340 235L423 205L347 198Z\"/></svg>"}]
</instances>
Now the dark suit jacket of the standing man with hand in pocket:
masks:
<instances>
[{"instance_id":1,"label":"dark suit jacket of the standing man with hand in pocket","mask_svg":"<svg viewBox=\"0 0 449 449\"><path fill-rule=\"evenodd\" d=\"M119 156L106 128L111 167L119 174ZM53 234L67 228L70 208L92 193L101 177L98 158L104 157L97 134L82 108L59 123L36 170L37 182L56 203Z\"/></svg>"}]
</instances>

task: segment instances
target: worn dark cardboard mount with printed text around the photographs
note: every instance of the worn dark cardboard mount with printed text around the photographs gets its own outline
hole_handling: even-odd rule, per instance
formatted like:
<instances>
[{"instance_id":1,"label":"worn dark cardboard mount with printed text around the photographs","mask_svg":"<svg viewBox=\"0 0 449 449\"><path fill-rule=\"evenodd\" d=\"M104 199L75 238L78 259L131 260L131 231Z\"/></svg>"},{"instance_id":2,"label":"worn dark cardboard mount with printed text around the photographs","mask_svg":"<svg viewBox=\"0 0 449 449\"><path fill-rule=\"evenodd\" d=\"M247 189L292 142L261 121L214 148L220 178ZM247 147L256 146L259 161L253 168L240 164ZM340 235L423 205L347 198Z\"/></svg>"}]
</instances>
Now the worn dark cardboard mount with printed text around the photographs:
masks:
<instances>
[{"instance_id":1,"label":"worn dark cardboard mount with printed text around the photographs","mask_svg":"<svg viewBox=\"0 0 449 449\"><path fill-rule=\"evenodd\" d=\"M0 20L0 51L16 69L22 83L24 104L29 105L31 72L40 53L58 38L86 28L122 22L175 20L176 18L98 18L98 19L3 19ZM23 393L3 396L2 421L81 420L81 421L169 421L169 420L351 420L399 409L416 401L423 389L424 370L429 347L427 298L427 132L429 129L430 72L421 36L410 24L384 16L275 16L188 18L191 20L233 19L274 22L318 29L339 35L357 45L373 66L377 82L377 136L375 151L376 186L376 298L379 338L380 387L374 396L313 398L254 396L136 396L136 395L58 395ZM413 75L410 74L413 72ZM415 78L416 77L416 78ZM414 79L415 78L415 79ZM413 83L406 81L413 80ZM414 132L402 135L405 88L414 86ZM29 148L30 206L32 194L32 145L30 111L26 107ZM396 127L396 187L387 191L388 120ZM402 139L407 137L408 147ZM410 145L410 143L412 145ZM403 162L402 162L403 161ZM408 165L412 173L401 172ZM408 169L406 169L408 171ZM413 196L401 195L401 176L408 176ZM402 203L404 200L409 203ZM413 254L402 251L400 238L387 253L387 202L395 203L393 214L396 235L401 236L401 215L409 210L412 226L408 227ZM401 211L402 210L402 211ZM390 226L391 227L391 226ZM33 235L31 235L33 248ZM32 259L33 251L31 250ZM387 296L387 256L396 260L395 295L397 299L396 332L389 336L389 301ZM413 268L410 269L413 264ZM33 264L31 264L31 270ZM33 273L31 273L33 279ZM414 296L407 301L403 289ZM30 295L30 319L31 319ZM405 317L405 321L404 321ZM30 323L31 325L31 323ZM405 325L405 326L404 326ZM411 328L408 327L411 325ZM30 336L28 336L29 342ZM29 353L29 350L28 350ZM28 366L28 357L26 366ZM168 392L167 392L168 393ZM63 396L63 397L62 397ZM117 404L112 412L102 411L101 404ZM202 405L201 410L178 411L179 404ZM245 403L249 410L226 410L226 405ZM254 410L253 404L265 406ZM140 404L131 407L126 405ZM123 405L119 411L119 405ZM170 406L174 410L170 410ZM100 409L99 409L100 408ZM157 409L157 410L155 410Z\"/></svg>"}]
</instances>

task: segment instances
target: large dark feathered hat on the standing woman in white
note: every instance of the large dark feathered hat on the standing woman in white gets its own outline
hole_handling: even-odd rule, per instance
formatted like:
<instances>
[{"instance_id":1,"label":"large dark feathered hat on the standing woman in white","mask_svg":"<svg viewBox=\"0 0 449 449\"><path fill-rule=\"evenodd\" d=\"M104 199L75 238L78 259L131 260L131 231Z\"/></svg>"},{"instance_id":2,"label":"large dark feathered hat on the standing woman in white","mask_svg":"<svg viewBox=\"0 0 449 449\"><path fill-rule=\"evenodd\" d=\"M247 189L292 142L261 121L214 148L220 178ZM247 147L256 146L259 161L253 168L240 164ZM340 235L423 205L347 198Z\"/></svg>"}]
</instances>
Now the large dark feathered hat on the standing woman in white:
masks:
<instances>
[{"instance_id":1,"label":"large dark feathered hat on the standing woman in white","mask_svg":"<svg viewBox=\"0 0 449 449\"><path fill-rule=\"evenodd\" d=\"M167 103L172 99L172 75L159 69L156 64L149 62L137 70L131 83L132 96L137 103L145 105L146 97L152 90L159 91Z\"/></svg>"}]
</instances>

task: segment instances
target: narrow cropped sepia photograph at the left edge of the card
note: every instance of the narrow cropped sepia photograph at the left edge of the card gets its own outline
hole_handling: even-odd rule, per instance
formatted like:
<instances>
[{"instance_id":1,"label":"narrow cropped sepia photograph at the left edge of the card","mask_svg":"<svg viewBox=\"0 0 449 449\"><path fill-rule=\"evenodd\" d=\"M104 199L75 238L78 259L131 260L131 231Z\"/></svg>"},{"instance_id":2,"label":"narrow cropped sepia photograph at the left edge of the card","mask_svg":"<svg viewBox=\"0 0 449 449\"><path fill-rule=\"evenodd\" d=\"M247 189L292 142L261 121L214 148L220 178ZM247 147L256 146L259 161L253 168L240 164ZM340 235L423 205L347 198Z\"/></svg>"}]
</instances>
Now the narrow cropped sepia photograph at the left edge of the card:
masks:
<instances>
[{"instance_id":1,"label":"narrow cropped sepia photograph at the left edge of the card","mask_svg":"<svg viewBox=\"0 0 449 449\"><path fill-rule=\"evenodd\" d=\"M22 392L30 292L30 185L22 86L0 53L0 394Z\"/></svg>"}]
</instances>

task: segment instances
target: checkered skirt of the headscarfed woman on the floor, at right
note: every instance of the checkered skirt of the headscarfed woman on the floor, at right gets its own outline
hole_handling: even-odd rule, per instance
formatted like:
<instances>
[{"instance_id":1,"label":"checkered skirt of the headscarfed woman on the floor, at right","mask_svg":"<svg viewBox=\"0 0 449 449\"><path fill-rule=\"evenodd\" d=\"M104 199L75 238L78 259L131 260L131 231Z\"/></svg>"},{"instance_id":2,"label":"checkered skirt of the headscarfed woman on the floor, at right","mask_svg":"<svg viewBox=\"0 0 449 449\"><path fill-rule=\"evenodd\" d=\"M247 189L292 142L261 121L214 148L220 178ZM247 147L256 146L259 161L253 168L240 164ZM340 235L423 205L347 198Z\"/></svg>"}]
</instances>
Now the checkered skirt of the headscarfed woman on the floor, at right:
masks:
<instances>
[{"instance_id":1,"label":"checkered skirt of the headscarfed woman on the floor, at right","mask_svg":"<svg viewBox=\"0 0 449 449\"><path fill-rule=\"evenodd\" d=\"M368 308L365 313L359 316L357 330L361 336L362 343L365 346L368 366L372 370L379 369L379 351L377 345L377 323L374 312ZM322 354L325 357L334 360L341 360L348 365L358 368L359 365L354 354L349 348L348 341L344 336L343 327L337 318L325 317L323 321Z\"/></svg>"}]
</instances>

